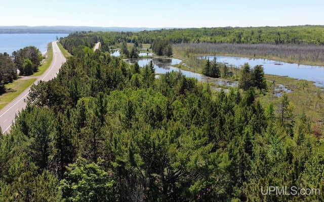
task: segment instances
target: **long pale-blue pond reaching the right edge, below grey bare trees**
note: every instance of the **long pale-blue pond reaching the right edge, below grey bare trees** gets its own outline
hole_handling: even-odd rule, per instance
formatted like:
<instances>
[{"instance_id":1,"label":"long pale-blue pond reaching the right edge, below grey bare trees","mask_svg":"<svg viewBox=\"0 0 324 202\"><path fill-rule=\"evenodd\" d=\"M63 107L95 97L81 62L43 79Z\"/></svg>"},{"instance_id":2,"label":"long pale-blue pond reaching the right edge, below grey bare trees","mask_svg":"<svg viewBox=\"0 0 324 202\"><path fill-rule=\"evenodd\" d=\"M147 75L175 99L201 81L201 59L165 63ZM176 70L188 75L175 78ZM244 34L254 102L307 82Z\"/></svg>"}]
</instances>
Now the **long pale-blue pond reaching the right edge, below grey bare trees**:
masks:
<instances>
[{"instance_id":1,"label":"long pale-blue pond reaching the right edge, below grey bare trees","mask_svg":"<svg viewBox=\"0 0 324 202\"><path fill-rule=\"evenodd\" d=\"M216 57L218 62L228 63L240 67L248 62L253 68L256 65L263 65L265 74L289 76L291 78L314 81L316 86L324 86L324 66L312 66L296 63L287 63L269 59L255 59L246 57L230 56L201 56L200 59L213 60Z\"/></svg>"}]
</instances>

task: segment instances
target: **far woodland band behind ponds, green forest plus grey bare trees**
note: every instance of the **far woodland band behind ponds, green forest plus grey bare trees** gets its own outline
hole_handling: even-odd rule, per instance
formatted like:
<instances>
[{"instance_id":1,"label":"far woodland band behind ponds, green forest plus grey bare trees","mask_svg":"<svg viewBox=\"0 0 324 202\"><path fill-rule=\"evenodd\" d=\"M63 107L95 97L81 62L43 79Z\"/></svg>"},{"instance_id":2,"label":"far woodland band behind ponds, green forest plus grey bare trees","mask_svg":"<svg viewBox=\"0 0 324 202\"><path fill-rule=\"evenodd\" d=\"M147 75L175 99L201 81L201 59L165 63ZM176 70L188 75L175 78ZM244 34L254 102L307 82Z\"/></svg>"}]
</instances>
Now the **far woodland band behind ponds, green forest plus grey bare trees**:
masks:
<instances>
[{"instance_id":1,"label":"far woodland band behind ponds, green forest plus grey bare trees","mask_svg":"<svg viewBox=\"0 0 324 202\"><path fill-rule=\"evenodd\" d=\"M188 53L239 54L254 57L286 58L293 62L323 62L323 26L216 27L160 29L139 32L76 32L64 38L69 52L78 45L93 47L101 43L103 51L122 43L151 44L156 55L173 54L186 48ZM79 40L73 38L77 36ZM75 40L75 41L73 41ZM161 46L164 44L163 46ZM158 46L155 46L158 45ZM131 52L132 50L128 50Z\"/></svg>"}]
</instances>

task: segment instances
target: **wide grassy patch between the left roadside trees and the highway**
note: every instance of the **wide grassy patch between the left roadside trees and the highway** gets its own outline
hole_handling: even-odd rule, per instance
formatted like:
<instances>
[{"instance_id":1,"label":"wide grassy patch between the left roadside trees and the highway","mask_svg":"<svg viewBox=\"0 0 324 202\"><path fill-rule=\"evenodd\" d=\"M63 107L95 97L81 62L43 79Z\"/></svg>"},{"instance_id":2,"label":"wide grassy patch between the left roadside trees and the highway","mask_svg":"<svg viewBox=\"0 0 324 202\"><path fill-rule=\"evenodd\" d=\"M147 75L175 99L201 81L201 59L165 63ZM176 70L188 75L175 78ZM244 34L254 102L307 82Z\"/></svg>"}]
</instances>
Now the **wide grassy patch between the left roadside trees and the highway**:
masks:
<instances>
[{"instance_id":1,"label":"wide grassy patch between the left roadside trees and the highway","mask_svg":"<svg viewBox=\"0 0 324 202\"><path fill-rule=\"evenodd\" d=\"M36 78L22 80L15 80L13 83L6 84L7 92L0 96L0 110L3 109L8 103L15 99L20 93L27 89Z\"/></svg>"}]
</instances>

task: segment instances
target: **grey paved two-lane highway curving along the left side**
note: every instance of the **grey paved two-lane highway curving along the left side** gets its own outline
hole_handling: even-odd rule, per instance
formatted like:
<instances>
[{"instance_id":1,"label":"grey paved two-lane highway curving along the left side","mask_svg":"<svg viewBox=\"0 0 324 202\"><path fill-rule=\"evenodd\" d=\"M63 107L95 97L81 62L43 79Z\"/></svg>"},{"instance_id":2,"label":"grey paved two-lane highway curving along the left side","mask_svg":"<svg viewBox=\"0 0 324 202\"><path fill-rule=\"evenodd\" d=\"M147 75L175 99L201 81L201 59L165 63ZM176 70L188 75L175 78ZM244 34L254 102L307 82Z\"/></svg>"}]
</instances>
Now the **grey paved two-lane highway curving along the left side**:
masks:
<instances>
[{"instance_id":1,"label":"grey paved two-lane highway curving along the left side","mask_svg":"<svg viewBox=\"0 0 324 202\"><path fill-rule=\"evenodd\" d=\"M56 74L59 72L62 64L66 61L63 56L61 50L59 49L57 42L52 42L53 46L53 60L49 68L45 71L45 73L39 77L37 77L34 84L37 84L39 80L49 81L56 77ZM3 130L3 133L9 132L10 127L15 121L15 116L18 114L21 109L26 107L26 103L24 99L26 99L30 87L28 87L25 91L23 91L20 95L18 95L12 102L8 103L6 107L4 107L0 111L0 127Z\"/></svg>"}]
</instances>

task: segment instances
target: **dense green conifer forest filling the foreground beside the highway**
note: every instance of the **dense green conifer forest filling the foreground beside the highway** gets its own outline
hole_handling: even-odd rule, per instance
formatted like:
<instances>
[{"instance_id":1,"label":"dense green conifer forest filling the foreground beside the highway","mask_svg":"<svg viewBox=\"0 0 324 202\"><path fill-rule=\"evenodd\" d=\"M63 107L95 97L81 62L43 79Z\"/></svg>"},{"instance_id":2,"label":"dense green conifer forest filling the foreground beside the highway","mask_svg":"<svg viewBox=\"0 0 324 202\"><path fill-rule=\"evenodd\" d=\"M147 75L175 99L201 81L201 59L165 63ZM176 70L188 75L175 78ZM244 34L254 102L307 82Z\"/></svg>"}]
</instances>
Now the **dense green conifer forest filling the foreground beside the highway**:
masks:
<instances>
[{"instance_id":1,"label":"dense green conifer forest filling the foreground beside the highway","mask_svg":"<svg viewBox=\"0 0 324 202\"><path fill-rule=\"evenodd\" d=\"M256 94L79 48L0 136L0 200L323 200L261 193L324 187L324 150L289 100L263 108Z\"/></svg>"}]
</instances>

